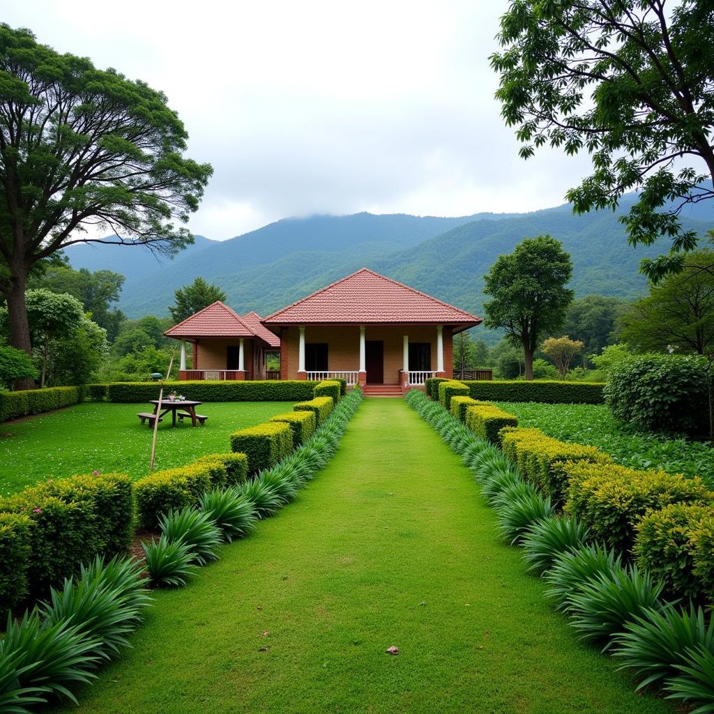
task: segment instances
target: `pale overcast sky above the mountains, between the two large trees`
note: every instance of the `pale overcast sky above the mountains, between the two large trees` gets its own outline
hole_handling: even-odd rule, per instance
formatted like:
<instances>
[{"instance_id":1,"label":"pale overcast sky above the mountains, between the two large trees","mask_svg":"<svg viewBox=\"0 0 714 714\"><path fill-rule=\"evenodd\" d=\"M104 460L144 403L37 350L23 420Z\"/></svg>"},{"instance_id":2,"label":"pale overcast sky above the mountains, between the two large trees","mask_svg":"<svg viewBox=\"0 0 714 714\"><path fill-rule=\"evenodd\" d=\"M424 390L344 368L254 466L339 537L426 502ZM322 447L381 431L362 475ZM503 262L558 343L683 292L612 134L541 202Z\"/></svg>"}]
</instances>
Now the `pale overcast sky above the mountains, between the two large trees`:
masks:
<instances>
[{"instance_id":1,"label":"pale overcast sky above the mountains, between the two large trees","mask_svg":"<svg viewBox=\"0 0 714 714\"><path fill-rule=\"evenodd\" d=\"M563 203L587 157L518 159L488 66L507 0L6 0L2 20L169 97L214 174L191 230Z\"/></svg>"}]
</instances>

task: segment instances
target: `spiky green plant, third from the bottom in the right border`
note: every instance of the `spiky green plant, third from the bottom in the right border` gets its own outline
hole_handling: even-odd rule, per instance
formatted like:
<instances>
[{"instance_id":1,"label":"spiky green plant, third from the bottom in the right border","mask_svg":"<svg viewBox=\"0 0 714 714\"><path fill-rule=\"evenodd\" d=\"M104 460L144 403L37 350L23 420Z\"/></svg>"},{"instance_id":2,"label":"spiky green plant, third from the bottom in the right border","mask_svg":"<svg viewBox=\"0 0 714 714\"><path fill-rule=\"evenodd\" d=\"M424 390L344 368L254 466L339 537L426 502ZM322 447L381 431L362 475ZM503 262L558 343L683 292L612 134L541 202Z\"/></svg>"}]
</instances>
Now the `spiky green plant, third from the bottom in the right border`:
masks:
<instances>
[{"instance_id":1,"label":"spiky green plant, third from the bottom in the right border","mask_svg":"<svg viewBox=\"0 0 714 714\"><path fill-rule=\"evenodd\" d=\"M613 645L613 636L648 610L659 610L664 583L636 565L612 568L580 583L568 597L565 611L584 639Z\"/></svg>"}]
</instances>

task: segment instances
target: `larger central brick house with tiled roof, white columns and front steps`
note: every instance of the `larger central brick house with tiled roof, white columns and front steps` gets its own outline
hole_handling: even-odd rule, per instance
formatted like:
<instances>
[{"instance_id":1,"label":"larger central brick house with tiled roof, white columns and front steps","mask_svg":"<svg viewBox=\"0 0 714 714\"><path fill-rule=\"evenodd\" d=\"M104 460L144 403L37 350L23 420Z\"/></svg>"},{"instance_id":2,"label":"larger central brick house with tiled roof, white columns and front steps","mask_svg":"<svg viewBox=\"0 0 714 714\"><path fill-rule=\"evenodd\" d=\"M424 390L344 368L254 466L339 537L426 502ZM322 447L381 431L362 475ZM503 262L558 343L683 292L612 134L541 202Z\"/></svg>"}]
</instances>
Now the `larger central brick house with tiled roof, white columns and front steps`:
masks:
<instances>
[{"instance_id":1,"label":"larger central brick house with tiled roof, white columns and front steps","mask_svg":"<svg viewBox=\"0 0 714 714\"><path fill-rule=\"evenodd\" d=\"M452 376L452 338L481 318L368 268L263 319L280 335L281 379L422 385Z\"/></svg>"}]
</instances>

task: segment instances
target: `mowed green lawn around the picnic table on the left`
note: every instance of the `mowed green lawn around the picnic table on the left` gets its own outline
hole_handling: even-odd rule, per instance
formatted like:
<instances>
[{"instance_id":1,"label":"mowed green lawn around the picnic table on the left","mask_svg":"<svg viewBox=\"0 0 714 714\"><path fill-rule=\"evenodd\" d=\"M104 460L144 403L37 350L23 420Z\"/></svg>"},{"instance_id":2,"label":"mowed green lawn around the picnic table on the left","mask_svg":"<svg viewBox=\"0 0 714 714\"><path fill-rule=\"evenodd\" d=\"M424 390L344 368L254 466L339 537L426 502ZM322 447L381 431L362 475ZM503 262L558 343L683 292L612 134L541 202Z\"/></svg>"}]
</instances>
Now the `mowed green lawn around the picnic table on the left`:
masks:
<instances>
[{"instance_id":1,"label":"mowed green lawn around the picnic table on the left","mask_svg":"<svg viewBox=\"0 0 714 714\"><path fill-rule=\"evenodd\" d=\"M293 402L206 403L205 426L186 420L159 424L156 468L183 466L198 456L231 451L231 431L292 411ZM76 473L119 471L139 478L149 473L152 430L136 414L150 404L84 403L28 419L0 423L0 496L36 481Z\"/></svg>"}]
</instances>

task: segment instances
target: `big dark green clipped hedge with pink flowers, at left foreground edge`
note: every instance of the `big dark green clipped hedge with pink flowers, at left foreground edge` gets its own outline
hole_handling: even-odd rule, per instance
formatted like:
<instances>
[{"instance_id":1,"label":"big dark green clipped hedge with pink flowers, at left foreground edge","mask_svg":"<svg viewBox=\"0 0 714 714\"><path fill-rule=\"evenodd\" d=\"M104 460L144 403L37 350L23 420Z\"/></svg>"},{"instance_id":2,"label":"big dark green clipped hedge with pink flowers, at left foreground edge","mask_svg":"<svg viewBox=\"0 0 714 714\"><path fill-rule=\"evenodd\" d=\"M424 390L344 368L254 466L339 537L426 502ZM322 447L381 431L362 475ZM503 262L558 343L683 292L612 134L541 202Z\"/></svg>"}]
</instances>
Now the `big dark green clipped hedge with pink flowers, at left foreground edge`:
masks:
<instances>
[{"instance_id":1,"label":"big dark green clipped hedge with pink flowers, at left foreground edge","mask_svg":"<svg viewBox=\"0 0 714 714\"><path fill-rule=\"evenodd\" d=\"M0 604L44 595L98 553L121 553L133 526L134 488L121 474L46 481L2 499Z\"/></svg>"}]
</instances>

